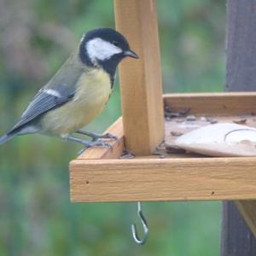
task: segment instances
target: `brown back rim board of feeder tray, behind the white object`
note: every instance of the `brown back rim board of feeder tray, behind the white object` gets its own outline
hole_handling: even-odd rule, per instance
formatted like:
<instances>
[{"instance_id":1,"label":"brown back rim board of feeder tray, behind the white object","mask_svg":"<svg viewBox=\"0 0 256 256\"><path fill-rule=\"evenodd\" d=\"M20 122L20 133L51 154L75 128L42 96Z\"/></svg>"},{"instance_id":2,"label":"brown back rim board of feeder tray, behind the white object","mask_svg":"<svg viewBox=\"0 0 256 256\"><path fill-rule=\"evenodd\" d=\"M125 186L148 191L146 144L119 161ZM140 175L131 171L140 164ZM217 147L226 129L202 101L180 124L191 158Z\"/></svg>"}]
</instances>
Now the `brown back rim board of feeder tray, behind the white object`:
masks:
<instances>
[{"instance_id":1,"label":"brown back rim board of feeder tray, behind the white object","mask_svg":"<svg viewBox=\"0 0 256 256\"><path fill-rule=\"evenodd\" d=\"M256 92L166 94L164 102L174 112L191 108L193 114L256 113Z\"/></svg>"}]
</instances>

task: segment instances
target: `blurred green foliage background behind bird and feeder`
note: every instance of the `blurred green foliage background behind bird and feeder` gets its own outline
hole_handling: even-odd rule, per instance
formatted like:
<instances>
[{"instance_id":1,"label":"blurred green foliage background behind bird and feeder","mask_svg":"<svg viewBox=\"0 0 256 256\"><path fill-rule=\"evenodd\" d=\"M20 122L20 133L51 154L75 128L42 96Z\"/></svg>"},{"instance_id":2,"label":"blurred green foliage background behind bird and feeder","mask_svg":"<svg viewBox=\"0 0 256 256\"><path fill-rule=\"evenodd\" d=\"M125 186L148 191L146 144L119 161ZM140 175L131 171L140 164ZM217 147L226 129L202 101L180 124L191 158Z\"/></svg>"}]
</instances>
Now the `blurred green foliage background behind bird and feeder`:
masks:
<instances>
[{"instance_id":1,"label":"blurred green foliage background behind bird and feeder","mask_svg":"<svg viewBox=\"0 0 256 256\"><path fill-rule=\"evenodd\" d=\"M165 92L223 90L224 1L157 4ZM114 26L112 0L0 1L0 134L83 32L102 26ZM87 130L104 131L120 114L116 84L108 108ZM71 204L68 162L78 150L39 135L0 147L0 256L218 255L218 202L143 204L150 228L143 247L131 239L136 204Z\"/></svg>"}]
</instances>

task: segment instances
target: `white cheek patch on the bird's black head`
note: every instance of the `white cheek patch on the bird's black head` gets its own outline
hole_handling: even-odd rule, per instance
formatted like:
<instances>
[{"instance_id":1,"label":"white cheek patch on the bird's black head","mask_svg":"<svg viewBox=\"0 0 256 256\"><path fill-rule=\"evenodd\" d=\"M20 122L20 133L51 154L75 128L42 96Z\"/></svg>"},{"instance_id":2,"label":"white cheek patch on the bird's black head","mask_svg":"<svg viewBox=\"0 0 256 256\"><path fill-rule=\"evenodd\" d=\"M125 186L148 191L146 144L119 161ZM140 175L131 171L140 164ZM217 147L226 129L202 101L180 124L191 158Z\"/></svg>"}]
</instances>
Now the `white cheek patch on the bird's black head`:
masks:
<instances>
[{"instance_id":1,"label":"white cheek patch on the bird's black head","mask_svg":"<svg viewBox=\"0 0 256 256\"><path fill-rule=\"evenodd\" d=\"M96 61L105 61L111 56L119 54L122 49L103 40L102 38L91 39L85 46L86 51L90 57L90 61L96 64Z\"/></svg>"}]
</instances>

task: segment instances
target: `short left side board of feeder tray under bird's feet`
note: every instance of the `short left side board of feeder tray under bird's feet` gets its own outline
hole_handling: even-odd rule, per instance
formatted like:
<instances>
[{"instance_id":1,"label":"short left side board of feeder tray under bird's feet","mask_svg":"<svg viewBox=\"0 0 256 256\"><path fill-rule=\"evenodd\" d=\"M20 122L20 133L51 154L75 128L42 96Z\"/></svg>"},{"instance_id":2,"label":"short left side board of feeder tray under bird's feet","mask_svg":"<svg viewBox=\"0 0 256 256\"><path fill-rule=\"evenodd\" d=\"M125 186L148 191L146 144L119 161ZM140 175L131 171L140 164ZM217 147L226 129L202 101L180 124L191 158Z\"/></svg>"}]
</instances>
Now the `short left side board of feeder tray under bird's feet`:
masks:
<instances>
[{"instance_id":1,"label":"short left side board of feeder tray under bird's feet","mask_svg":"<svg viewBox=\"0 0 256 256\"><path fill-rule=\"evenodd\" d=\"M112 159L119 158L124 149L124 132L122 118L117 119L104 133L111 133L118 137L119 141L109 140L108 143L112 148L88 148L83 154L80 154L78 159Z\"/></svg>"}]
</instances>

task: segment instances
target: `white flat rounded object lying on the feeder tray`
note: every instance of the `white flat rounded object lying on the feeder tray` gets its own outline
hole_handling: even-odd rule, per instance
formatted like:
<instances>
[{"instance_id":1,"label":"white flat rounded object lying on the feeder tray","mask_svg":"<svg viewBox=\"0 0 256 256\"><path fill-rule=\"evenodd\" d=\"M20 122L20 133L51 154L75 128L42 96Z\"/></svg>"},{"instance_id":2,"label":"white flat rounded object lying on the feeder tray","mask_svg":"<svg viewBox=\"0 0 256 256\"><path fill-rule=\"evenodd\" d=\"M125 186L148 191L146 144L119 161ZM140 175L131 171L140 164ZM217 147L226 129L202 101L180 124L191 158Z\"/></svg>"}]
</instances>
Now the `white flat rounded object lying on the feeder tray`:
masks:
<instances>
[{"instance_id":1,"label":"white flat rounded object lying on the feeder tray","mask_svg":"<svg viewBox=\"0 0 256 256\"><path fill-rule=\"evenodd\" d=\"M256 128L232 123L207 125L178 137L175 144L211 156L256 156Z\"/></svg>"}]
</instances>

